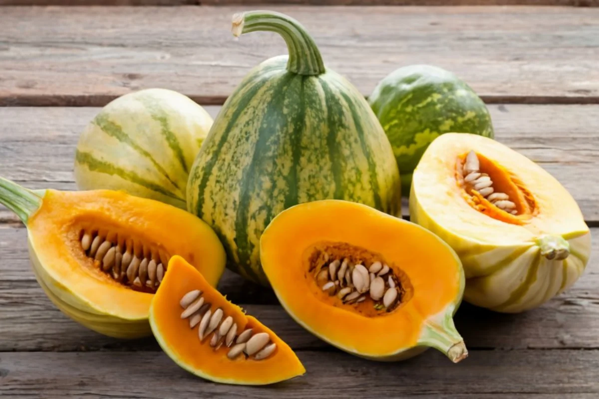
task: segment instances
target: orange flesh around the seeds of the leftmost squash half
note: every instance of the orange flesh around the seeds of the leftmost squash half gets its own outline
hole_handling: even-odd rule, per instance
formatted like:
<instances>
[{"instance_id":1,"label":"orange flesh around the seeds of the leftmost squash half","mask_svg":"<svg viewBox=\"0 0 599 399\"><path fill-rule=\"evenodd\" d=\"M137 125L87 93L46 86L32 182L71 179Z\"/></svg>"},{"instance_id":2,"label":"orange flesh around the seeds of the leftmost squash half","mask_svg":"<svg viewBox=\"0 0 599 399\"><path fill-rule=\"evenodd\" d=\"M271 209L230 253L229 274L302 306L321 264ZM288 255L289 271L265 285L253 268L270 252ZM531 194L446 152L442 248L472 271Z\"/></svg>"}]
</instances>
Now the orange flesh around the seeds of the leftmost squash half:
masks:
<instances>
[{"instance_id":1,"label":"orange flesh around the seeds of the leftmost squash half","mask_svg":"<svg viewBox=\"0 0 599 399\"><path fill-rule=\"evenodd\" d=\"M125 287L99 270L98 262L81 248L80 234L86 229L118 237L119 242L133 237L140 243L136 252L142 251L141 243L148 243L180 254L198 265L212 285L224 269L225 253L216 234L187 212L118 191L47 190L28 220L34 263L59 282L60 292L74 294L92 313L143 321L153 295Z\"/></svg>"}]
</instances>

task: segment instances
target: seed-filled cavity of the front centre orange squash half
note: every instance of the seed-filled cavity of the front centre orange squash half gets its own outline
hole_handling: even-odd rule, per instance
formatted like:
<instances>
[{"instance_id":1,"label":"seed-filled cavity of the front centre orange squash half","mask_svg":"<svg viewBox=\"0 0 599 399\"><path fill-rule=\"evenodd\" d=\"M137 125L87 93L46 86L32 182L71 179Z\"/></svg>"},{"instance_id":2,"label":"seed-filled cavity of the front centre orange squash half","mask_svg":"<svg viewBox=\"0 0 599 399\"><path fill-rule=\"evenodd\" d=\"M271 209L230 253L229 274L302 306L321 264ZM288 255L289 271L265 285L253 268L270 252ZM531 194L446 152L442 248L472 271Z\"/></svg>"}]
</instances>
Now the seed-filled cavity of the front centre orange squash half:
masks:
<instances>
[{"instance_id":1,"label":"seed-filled cavity of the front centre orange squash half","mask_svg":"<svg viewBox=\"0 0 599 399\"><path fill-rule=\"evenodd\" d=\"M304 259L314 294L332 306L373 317L393 312L413 296L406 273L367 249L322 242L308 248Z\"/></svg>"}]
</instances>

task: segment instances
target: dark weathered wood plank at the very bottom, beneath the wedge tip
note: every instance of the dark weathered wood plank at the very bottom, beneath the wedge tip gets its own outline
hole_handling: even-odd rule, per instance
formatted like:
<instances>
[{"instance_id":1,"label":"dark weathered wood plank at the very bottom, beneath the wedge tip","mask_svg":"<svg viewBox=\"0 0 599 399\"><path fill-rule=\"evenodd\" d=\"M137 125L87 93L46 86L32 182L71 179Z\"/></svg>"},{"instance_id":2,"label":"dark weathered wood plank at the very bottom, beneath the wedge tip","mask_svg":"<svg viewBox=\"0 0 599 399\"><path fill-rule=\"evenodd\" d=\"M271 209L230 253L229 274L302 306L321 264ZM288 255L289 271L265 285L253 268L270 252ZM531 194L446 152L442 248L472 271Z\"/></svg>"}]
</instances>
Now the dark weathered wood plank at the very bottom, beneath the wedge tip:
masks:
<instances>
[{"instance_id":1,"label":"dark weathered wood plank at the very bottom, beneath the wedge tip","mask_svg":"<svg viewBox=\"0 0 599 399\"><path fill-rule=\"evenodd\" d=\"M341 352L306 351L298 357L305 376L249 389L193 377L160 352L4 353L0 395L591 399L599 394L599 351L477 351L458 365L434 351L404 363L377 363Z\"/></svg>"}]
</instances>

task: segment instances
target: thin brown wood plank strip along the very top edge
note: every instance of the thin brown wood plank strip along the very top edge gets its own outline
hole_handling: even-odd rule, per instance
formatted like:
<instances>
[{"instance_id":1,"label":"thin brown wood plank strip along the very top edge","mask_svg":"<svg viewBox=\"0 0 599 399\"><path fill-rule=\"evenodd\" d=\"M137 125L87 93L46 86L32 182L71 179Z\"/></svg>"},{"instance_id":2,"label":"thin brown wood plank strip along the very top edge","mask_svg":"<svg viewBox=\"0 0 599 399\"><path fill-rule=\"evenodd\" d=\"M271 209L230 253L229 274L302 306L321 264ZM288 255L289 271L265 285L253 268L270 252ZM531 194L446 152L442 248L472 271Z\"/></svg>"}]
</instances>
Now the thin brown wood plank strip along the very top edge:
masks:
<instances>
[{"instance_id":1,"label":"thin brown wood plank strip along the very top edge","mask_svg":"<svg viewBox=\"0 0 599 399\"><path fill-rule=\"evenodd\" d=\"M597 0L0 0L2 5L561 5L597 7Z\"/></svg>"}]
</instances>

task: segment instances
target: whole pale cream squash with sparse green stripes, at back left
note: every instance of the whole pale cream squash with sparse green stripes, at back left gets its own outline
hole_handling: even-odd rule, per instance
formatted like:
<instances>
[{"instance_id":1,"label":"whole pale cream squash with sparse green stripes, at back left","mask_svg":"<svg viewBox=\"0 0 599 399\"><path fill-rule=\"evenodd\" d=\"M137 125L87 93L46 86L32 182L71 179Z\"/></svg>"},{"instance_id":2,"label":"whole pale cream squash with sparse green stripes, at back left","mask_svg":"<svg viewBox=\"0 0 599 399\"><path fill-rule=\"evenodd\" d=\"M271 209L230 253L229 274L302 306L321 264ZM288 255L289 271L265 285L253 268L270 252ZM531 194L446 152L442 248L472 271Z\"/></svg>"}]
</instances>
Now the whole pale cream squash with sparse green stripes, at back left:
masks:
<instances>
[{"instance_id":1,"label":"whole pale cream squash with sparse green stripes, at back left","mask_svg":"<svg viewBox=\"0 0 599 399\"><path fill-rule=\"evenodd\" d=\"M121 96L81 133L77 187L123 190L185 209L187 176L211 125L204 108L172 90Z\"/></svg>"}]
</instances>

